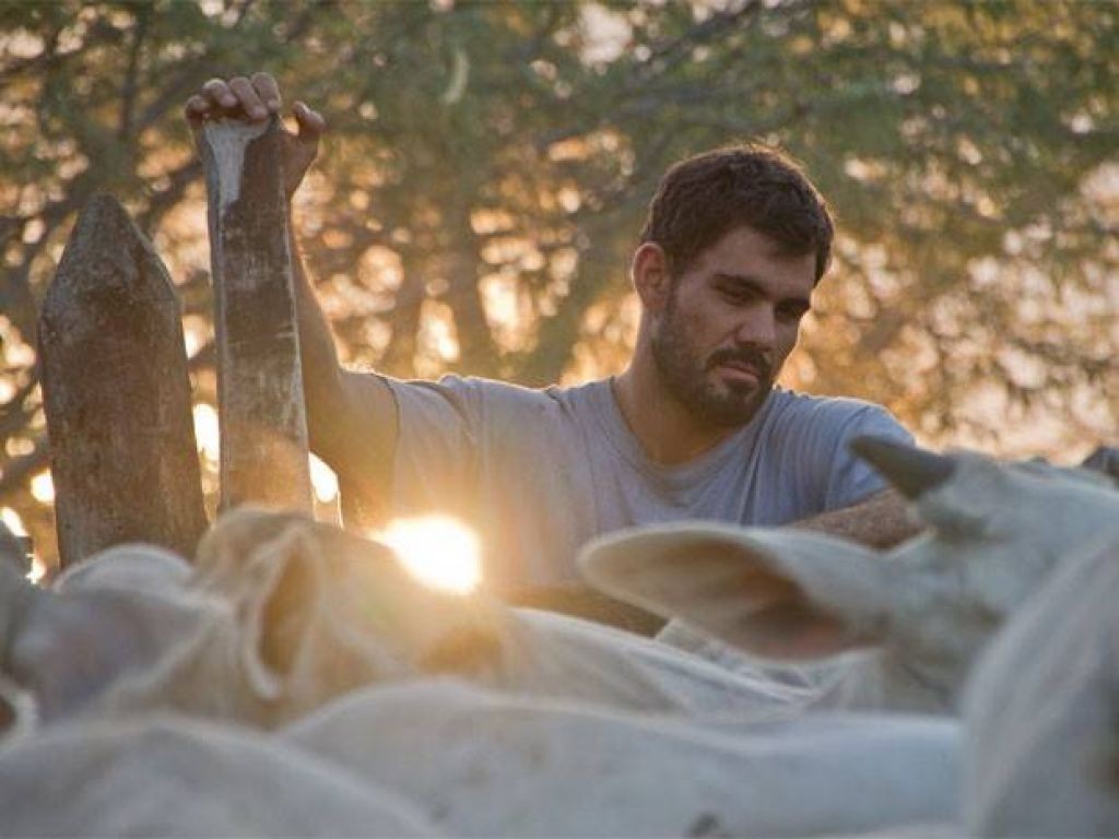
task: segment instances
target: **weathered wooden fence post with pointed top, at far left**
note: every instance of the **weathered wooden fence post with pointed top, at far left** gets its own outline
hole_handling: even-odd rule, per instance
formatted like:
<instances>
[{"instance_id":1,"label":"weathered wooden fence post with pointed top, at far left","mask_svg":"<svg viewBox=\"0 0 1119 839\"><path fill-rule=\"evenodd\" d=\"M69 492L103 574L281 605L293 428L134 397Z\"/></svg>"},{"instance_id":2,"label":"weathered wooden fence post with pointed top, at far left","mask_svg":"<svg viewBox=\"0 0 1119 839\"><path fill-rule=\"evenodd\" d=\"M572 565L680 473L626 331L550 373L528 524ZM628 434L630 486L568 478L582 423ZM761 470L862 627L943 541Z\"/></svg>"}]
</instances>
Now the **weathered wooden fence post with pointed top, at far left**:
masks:
<instances>
[{"instance_id":1,"label":"weathered wooden fence post with pointed top, at far left","mask_svg":"<svg viewBox=\"0 0 1119 839\"><path fill-rule=\"evenodd\" d=\"M39 359L63 565L133 540L192 556L206 512L179 305L109 196L90 201L63 253Z\"/></svg>"}]
</instances>

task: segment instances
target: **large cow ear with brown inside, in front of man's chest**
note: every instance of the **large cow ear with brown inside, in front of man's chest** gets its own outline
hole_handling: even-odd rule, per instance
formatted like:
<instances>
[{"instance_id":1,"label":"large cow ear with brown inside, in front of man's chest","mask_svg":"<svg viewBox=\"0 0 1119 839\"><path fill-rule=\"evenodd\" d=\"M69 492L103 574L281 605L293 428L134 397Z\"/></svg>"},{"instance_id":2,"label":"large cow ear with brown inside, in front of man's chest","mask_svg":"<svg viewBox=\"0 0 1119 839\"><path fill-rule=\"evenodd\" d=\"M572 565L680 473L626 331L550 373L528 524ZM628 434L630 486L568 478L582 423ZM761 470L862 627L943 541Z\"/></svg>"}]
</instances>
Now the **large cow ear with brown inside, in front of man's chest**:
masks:
<instances>
[{"instance_id":1,"label":"large cow ear with brown inside, in front of man's chest","mask_svg":"<svg viewBox=\"0 0 1119 839\"><path fill-rule=\"evenodd\" d=\"M580 557L591 585L760 658L806 661L881 640L873 552L791 529L692 524L610 535Z\"/></svg>"}]
</instances>

